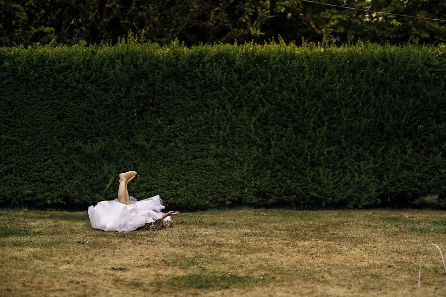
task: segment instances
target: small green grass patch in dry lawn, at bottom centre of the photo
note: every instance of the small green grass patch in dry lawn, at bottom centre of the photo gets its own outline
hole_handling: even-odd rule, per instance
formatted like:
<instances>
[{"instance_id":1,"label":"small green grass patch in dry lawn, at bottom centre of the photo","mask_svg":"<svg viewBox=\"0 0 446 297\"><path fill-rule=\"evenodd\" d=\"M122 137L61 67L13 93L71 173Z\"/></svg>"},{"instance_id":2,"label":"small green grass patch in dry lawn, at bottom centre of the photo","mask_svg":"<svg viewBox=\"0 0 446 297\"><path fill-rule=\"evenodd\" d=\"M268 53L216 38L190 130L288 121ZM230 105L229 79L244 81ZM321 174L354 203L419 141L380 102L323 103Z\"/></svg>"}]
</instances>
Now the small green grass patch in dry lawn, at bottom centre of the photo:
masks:
<instances>
[{"instance_id":1,"label":"small green grass patch in dry lawn, at bottom centre of the photo","mask_svg":"<svg viewBox=\"0 0 446 297\"><path fill-rule=\"evenodd\" d=\"M250 286L257 281L251 276L239 276L221 271L203 271L200 274L193 273L171 277L168 283L169 286L174 288L228 289Z\"/></svg>"}]
</instances>

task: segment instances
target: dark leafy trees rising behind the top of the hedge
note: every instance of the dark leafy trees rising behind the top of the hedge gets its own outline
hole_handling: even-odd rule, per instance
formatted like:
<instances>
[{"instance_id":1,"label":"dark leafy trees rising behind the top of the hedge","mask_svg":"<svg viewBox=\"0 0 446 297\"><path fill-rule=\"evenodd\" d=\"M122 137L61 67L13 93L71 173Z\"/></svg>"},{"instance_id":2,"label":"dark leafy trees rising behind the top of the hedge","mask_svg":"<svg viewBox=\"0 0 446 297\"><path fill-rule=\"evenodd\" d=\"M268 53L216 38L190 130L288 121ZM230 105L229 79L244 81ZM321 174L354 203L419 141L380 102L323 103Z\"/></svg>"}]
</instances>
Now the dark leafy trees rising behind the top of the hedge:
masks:
<instances>
[{"instance_id":1,"label":"dark leafy trees rising behind the top of the hedge","mask_svg":"<svg viewBox=\"0 0 446 297\"><path fill-rule=\"evenodd\" d=\"M446 1L324 0L369 11L446 19ZM0 0L0 46L99 44L128 32L161 44L254 40L336 44L361 39L446 42L446 22L343 9L301 0Z\"/></svg>"}]
</instances>

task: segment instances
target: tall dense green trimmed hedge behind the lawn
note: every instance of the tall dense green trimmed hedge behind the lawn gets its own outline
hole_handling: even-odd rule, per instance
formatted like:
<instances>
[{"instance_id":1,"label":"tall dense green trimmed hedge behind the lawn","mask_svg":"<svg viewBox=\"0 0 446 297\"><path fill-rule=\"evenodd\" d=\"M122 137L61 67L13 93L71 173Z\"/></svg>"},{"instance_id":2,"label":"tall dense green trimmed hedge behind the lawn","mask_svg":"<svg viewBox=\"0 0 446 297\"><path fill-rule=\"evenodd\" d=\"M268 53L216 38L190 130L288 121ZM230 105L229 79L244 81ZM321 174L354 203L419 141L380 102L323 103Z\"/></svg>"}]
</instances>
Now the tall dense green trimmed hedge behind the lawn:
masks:
<instances>
[{"instance_id":1,"label":"tall dense green trimmed hedge behind the lawn","mask_svg":"<svg viewBox=\"0 0 446 297\"><path fill-rule=\"evenodd\" d=\"M445 207L445 51L1 48L0 203Z\"/></svg>"}]
</instances>

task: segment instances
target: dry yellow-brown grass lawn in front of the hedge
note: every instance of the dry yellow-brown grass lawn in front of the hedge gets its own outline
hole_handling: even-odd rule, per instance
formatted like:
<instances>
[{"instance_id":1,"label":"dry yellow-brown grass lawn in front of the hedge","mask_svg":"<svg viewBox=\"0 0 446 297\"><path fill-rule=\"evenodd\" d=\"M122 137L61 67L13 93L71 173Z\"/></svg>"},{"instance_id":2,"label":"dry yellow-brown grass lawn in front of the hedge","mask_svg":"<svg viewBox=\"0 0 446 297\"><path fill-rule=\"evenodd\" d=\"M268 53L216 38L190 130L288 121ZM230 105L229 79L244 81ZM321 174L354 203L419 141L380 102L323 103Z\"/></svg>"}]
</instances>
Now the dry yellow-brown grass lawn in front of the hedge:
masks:
<instances>
[{"instance_id":1,"label":"dry yellow-brown grass lawn in front of the hedge","mask_svg":"<svg viewBox=\"0 0 446 297\"><path fill-rule=\"evenodd\" d=\"M446 296L446 212L239 209L93 230L86 211L0 209L0 296Z\"/></svg>"}]
</instances>

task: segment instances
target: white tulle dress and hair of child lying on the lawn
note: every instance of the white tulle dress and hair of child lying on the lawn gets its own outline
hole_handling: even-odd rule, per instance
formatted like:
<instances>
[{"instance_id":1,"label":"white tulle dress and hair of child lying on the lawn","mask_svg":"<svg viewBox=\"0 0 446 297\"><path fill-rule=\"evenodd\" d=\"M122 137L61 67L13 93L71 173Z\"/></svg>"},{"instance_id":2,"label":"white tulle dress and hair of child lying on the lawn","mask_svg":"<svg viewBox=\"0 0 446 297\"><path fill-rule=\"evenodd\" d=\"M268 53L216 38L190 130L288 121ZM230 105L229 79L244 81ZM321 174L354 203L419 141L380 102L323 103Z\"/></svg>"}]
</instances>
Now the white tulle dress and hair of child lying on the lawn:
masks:
<instances>
[{"instance_id":1,"label":"white tulle dress and hair of child lying on the lawn","mask_svg":"<svg viewBox=\"0 0 446 297\"><path fill-rule=\"evenodd\" d=\"M128 232L147 224L153 230L170 226L170 216L163 219L161 210L164 208L160 195L139 201L130 197L129 204L121 203L116 198L88 207L88 216L93 229ZM155 226L158 228L152 228Z\"/></svg>"}]
</instances>

